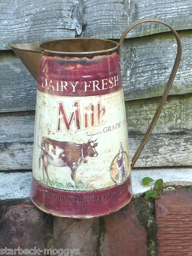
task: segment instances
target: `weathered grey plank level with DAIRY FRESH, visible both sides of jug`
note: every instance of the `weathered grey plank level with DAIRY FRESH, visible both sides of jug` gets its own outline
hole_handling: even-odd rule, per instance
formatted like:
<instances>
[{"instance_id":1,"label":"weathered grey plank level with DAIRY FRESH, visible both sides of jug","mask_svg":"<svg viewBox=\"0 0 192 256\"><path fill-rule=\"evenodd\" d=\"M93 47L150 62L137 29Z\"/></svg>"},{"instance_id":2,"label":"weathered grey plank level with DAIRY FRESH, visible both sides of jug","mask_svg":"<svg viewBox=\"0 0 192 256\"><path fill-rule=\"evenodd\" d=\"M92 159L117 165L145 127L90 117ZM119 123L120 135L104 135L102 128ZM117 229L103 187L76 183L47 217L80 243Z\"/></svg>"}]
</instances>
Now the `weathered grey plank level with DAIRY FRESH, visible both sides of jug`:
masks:
<instances>
[{"instance_id":1,"label":"weathered grey plank level with DAIRY FRESH, visible both sides of jug","mask_svg":"<svg viewBox=\"0 0 192 256\"><path fill-rule=\"evenodd\" d=\"M192 37L180 33L183 55L170 94L192 92ZM125 100L157 97L163 94L176 55L176 42L169 33L126 39L121 56ZM36 81L12 51L0 51L0 112L35 109Z\"/></svg>"}]
</instances>

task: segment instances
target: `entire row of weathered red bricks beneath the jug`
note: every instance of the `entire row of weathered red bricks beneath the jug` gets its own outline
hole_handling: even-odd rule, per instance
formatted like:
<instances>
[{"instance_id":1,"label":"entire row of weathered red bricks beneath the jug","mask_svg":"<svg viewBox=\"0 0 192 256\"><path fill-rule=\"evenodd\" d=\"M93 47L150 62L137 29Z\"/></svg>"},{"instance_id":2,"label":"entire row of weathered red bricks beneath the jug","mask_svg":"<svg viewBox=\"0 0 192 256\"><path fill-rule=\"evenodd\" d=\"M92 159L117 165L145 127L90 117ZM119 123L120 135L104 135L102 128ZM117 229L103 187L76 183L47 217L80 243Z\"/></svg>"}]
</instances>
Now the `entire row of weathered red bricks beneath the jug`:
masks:
<instances>
[{"instance_id":1,"label":"entire row of weathered red bricks beneath the jug","mask_svg":"<svg viewBox=\"0 0 192 256\"><path fill-rule=\"evenodd\" d=\"M1 201L0 254L192 255L190 187L169 186L159 199L138 197L88 220L52 217L30 202L13 204Z\"/></svg>"}]
</instances>

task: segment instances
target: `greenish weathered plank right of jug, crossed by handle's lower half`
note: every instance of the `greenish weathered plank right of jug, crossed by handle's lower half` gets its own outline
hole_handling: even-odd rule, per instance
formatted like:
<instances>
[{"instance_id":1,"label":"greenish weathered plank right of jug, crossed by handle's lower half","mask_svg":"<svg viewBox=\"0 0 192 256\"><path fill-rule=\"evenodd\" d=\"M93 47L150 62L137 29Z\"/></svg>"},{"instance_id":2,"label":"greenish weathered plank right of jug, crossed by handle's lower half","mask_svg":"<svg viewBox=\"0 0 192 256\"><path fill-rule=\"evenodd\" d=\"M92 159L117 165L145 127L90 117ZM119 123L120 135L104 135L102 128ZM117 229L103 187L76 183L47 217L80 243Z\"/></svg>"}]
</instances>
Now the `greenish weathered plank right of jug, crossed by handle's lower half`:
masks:
<instances>
[{"instance_id":1,"label":"greenish weathered plank right of jug, crossed by handle's lower half","mask_svg":"<svg viewBox=\"0 0 192 256\"><path fill-rule=\"evenodd\" d=\"M128 132L131 136L146 132L158 103L157 98L125 102ZM153 134L191 134L191 110L192 94L168 97Z\"/></svg>"}]
</instances>

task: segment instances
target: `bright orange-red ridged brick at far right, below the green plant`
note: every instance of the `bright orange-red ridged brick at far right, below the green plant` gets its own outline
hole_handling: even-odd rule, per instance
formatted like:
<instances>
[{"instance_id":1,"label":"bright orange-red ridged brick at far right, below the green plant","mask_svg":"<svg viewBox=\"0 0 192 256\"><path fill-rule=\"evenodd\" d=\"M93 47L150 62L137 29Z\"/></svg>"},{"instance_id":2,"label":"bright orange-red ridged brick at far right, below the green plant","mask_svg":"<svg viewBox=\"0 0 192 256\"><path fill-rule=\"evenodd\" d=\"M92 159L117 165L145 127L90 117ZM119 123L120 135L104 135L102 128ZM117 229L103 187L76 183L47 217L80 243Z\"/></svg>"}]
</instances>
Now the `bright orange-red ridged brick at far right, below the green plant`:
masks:
<instances>
[{"instance_id":1,"label":"bright orange-red ridged brick at far right, below the green plant","mask_svg":"<svg viewBox=\"0 0 192 256\"><path fill-rule=\"evenodd\" d=\"M192 192L180 189L156 200L159 256L192 255Z\"/></svg>"}]
</instances>

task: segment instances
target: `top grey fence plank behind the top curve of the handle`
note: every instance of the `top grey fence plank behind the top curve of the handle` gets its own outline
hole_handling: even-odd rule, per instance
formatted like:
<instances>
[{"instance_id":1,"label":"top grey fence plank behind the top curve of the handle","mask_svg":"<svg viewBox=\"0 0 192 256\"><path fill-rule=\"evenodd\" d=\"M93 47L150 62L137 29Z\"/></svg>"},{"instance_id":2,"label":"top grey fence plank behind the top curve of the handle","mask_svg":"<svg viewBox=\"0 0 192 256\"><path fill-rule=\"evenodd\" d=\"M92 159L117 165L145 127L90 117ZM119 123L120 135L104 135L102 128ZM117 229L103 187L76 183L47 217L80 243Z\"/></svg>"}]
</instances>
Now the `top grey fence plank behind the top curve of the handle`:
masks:
<instances>
[{"instance_id":1,"label":"top grey fence plank behind the top curve of the handle","mask_svg":"<svg viewBox=\"0 0 192 256\"><path fill-rule=\"evenodd\" d=\"M190 0L129 0L84 1L86 5L86 29L82 36L119 38L134 21L141 18L158 18L176 30L191 29ZM145 23L134 28L129 37L138 37L167 31L157 23Z\"/></svg>"}]
</instances>

